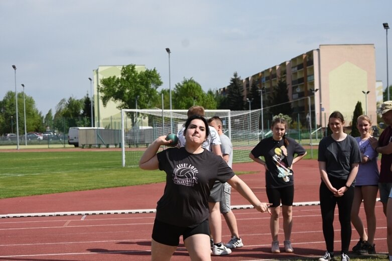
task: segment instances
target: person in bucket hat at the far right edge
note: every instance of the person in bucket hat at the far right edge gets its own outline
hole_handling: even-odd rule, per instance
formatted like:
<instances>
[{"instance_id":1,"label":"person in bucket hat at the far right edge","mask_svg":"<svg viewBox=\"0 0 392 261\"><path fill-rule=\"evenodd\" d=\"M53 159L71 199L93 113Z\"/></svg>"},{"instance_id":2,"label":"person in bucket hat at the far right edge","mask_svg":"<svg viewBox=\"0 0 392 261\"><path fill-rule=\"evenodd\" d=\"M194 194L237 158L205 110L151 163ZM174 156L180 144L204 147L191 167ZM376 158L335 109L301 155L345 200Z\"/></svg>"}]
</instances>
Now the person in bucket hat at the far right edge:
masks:
<instances>
[{"instance_id":1,"label":"person in bucket hat at the far right edge","mask_svg":"<svg viewBox=\"0 0 392 261\"><path fill-rule=\"evenodd\" d=\"M390 170L390 165L392 164L392 100L384 101L378 112L381 113L383 121L388 126L382 131L378 141L376 138L370 137L369 142L377 153L381 153L378 190L382 208L386 215L386 205L392 188L392 171Z\"/></svg>"}]
</instances>

